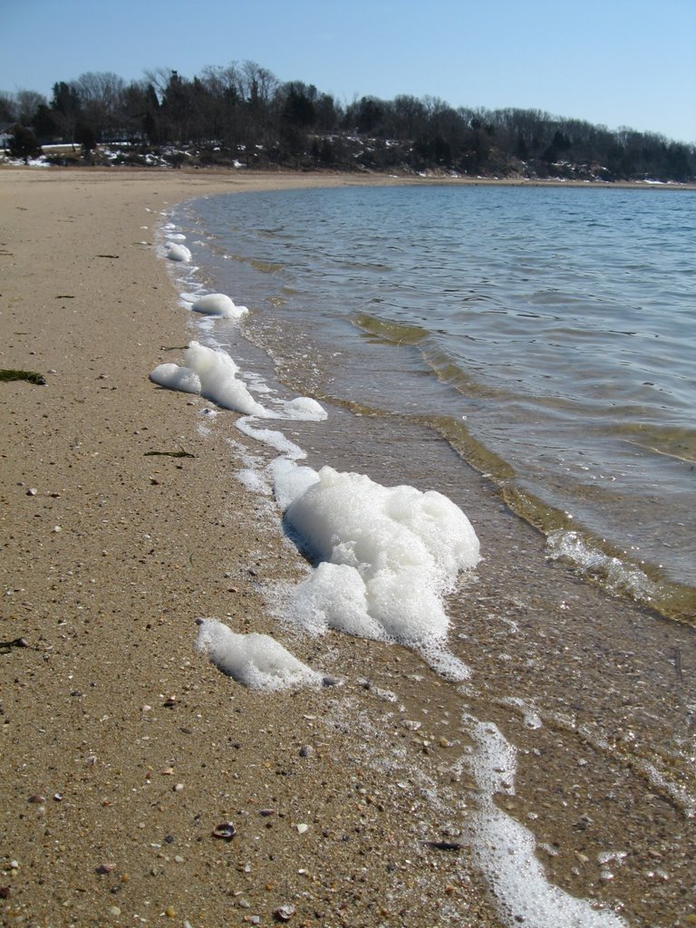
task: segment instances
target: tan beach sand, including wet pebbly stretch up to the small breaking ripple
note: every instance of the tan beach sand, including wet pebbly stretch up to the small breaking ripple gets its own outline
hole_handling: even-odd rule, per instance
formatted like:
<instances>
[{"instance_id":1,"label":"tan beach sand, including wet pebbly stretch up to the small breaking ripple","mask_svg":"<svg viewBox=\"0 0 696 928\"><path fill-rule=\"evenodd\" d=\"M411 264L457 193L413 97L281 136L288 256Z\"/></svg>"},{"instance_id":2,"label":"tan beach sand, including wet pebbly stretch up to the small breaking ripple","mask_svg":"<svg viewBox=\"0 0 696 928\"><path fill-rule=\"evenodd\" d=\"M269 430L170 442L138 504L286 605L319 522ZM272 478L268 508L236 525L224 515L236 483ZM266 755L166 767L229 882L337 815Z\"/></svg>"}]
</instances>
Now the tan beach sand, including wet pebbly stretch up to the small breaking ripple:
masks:
<instances>
[{"instance_id":1,"label":"tan beach sand, including wet pebbly stretch up to the small breaking ripple","mask_svg":"<svg viewBox=\"0 0 696 928\"><path fill-rule=\"evenodd\" d=\"M630 924L696 922L694 819L677 790L693 786L680 760L694 737L690 629L548 564L470 471L451 494L437 487L485 555L449 603L470 684L403 649L290 636L266 594L303 561L234 479L226 439L259 448L231 414L198 431L205 404L148 381L191 336L153 253L162 211L358 182L370 181L0 172L0 367L47 381L0 383L0 639L27 645L0 653L7 925L270 924L292 907L296 925L495 926L470 854L463 712L520 749L517 792L498 805L533 825L556 883L623 900ZM359 428L355 444L374 448L379 423ZM405 426L401 448L355 470L408 482L404 449L422 437ZM194 457L148 455L181 449ZM343 685L245 690L194 651L200 615L273 634ZM641 768L658 755L664 787ZM226 821L229 842L213 837Z\"/></svg>"}]
</instances>

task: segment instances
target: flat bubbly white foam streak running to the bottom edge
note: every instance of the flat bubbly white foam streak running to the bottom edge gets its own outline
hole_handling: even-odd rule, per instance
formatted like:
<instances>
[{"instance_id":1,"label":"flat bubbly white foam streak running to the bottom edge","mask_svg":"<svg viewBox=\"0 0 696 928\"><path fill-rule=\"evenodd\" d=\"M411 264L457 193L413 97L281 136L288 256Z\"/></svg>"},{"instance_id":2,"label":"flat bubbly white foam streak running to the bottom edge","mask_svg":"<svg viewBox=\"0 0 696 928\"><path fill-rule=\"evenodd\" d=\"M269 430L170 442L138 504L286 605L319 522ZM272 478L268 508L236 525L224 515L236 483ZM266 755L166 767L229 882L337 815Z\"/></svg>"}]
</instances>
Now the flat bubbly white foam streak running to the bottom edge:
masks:
<instances>
[{"instance_id":1,"label":"flat bubbly white foam streak running to the bottom edge","mask_svg":"<svg viewBox=\"0 0 696 928\"><path fill-rule=\"evenodd\" d=\"M548 883L535 857L535 836L496 806L496 793L514 795L517 754L495 725L473 721L477 742L472 761L481 791L480 810L470 816L471 850L486 874L503 919L534 928L627 928L624 919L606 909L594 909Z\"/></svg>"}]
</instances>

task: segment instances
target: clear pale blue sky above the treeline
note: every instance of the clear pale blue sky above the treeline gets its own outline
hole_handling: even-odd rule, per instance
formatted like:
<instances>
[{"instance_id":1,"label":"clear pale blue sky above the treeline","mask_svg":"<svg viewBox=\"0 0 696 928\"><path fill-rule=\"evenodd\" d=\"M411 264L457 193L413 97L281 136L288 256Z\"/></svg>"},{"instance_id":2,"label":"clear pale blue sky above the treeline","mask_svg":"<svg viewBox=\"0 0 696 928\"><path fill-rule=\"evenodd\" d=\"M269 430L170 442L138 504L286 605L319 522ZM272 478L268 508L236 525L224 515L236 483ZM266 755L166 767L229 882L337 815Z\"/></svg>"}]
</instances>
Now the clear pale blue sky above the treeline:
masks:
<instances>
[{"instance_id":1,"label":"clear pale blue sky above the treeline","mask_svg":"<svg viewBox=\"0 0 696 928\"><path fill-rule=\"evenodd\" d=\"M0 90L250 59L342 102L441 97L696 143L696 0L0 0Z\"/></svg>"}]
</instances>

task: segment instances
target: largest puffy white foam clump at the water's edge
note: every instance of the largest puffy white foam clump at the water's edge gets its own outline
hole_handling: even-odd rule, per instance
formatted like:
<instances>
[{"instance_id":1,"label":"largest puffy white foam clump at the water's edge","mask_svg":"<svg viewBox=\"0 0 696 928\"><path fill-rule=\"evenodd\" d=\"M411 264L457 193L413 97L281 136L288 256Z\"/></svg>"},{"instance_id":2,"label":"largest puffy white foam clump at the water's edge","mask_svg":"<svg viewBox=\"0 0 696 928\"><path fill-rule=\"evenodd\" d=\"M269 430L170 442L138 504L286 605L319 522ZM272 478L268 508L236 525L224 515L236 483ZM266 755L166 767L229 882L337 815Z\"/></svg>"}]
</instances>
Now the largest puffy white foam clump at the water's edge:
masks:
<instances>
[{"instance_id":1,"label":"largest puffy white foam clump at the water's edge","mask_svg":"<svg viewBox=\"0 0 696 928\"><path fill-rule=\"evenodd\" d=\"M288 463L274 472L274 492L320 561L293 596L291 621L313 634L331 627L394 640L446 677L468 676L445 651L443 597L479 561L479 540L458 506L435 491Z\"/></svg>"}]
</instances>

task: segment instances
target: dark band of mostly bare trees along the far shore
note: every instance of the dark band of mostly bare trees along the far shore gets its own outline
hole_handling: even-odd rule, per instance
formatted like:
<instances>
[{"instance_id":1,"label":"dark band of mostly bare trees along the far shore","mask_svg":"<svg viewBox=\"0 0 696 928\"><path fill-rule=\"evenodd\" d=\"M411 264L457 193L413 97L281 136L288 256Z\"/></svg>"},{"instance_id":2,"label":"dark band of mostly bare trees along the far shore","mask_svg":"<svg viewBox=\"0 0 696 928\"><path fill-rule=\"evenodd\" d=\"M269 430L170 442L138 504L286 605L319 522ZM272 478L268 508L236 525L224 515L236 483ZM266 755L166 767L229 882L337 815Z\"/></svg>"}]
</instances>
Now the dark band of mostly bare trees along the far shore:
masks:
<instances>
[{"instance_id":1,"label":"dark band of mostly bare trees along the far shore","mask_svg":"<svg viewBox=\"0 0 696 928\"><path fill-rule=\"evenodd\" d=\"M113 73L88 72L54 84L50 100L32 90L0 93L0 129L21 157L70 143L91 163L696 178L696 146L663 135L540 110L455 109L437 97L361 97L345 104L314 84L282 83L251 61L206 68L192 80L159 70L126 84Z\"/></svg>"}]
</instances>

